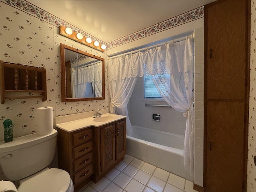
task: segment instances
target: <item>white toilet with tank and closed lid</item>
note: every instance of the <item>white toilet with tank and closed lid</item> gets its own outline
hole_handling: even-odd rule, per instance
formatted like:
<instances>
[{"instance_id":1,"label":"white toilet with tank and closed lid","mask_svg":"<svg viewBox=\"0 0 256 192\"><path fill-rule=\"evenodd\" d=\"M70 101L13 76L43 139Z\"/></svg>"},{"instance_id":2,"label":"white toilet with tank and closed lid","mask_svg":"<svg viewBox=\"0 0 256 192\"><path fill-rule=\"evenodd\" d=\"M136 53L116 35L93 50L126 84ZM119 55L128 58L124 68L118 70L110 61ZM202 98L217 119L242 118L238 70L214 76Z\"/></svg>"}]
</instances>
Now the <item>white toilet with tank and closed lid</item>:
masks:
<instances>
[{"instance_id":1,"label":"white toilet with tank and closed lid","mask_svg":"<svg viewBox=\"0 0 256 192\"><path fill-rule=\"evenodd\" d=\"M35 133L0 142L1 168L8 180L19 181L18 192L74 191L68 172L47 168L54 158L57 134L54 129L44 136Z\"/></svg>"}]
</instances>

